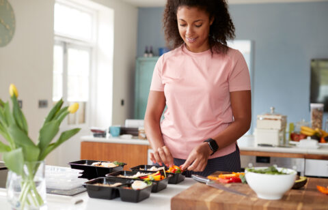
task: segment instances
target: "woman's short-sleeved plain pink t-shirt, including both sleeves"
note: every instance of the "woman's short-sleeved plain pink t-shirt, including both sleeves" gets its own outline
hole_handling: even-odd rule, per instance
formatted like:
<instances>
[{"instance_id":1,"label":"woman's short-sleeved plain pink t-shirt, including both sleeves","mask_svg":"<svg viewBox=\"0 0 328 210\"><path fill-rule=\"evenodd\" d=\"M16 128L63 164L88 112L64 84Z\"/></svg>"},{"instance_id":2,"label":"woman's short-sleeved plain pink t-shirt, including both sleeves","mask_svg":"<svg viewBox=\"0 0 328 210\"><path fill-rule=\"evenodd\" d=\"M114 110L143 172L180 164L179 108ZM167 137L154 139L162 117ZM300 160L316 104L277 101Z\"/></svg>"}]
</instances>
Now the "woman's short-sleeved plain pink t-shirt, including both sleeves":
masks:
<instances>
[{"instance_id":1,"label":"woman's short-sleeved plain pink t-shirt, including both sleeves","mask_svg":"<svg viewBox=\"0 0 328 210\"><path fill-rule=\"evenodd\" d=\"M247 64L238 50L212 56L210 50L195 53L182 44L162 55L150 90L164 91L161 132L173 157L187 159L194 147L225 130L233 121L230 92L250 89ZM209 158L235 150L232 143Z\"/></svg>"}]
</instances>

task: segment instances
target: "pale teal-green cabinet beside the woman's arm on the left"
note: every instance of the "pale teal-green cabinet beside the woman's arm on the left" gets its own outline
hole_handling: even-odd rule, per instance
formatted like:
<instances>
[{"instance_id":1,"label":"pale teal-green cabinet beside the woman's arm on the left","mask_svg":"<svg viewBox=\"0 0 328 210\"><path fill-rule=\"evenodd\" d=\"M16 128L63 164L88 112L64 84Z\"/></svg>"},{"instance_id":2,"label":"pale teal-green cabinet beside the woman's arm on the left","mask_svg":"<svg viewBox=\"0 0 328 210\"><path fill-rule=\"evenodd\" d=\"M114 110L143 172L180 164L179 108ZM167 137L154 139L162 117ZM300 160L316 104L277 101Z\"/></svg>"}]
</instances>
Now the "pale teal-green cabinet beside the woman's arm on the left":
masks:
<instances>
[{"instance_id":1,"label":"pale teal-green cabinet beside the woman's arm on the left","mask_svg":"<svg viewBox=\"0 0 328 210\"><path fill-rule=\"evenodd\" d=\"M152 72L159 57L139 57L135 68L135 119L145 117Z\"/></svg>"}]
</instances>

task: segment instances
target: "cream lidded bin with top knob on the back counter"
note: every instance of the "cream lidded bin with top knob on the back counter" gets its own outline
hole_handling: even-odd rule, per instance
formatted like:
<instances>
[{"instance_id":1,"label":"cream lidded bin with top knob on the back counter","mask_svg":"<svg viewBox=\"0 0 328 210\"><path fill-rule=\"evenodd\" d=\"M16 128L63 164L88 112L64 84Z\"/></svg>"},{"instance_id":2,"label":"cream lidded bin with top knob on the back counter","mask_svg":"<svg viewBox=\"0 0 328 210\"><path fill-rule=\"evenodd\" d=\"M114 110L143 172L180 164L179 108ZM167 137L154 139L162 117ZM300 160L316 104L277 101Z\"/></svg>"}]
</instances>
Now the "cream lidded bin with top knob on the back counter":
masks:
<instances>
[{"instance_id":1,"label":"cream lidded bin with top knob on the back counter","mask_svg":"<svg viewBox=\"0 0 328 210\"><path fill-rule=\"evenodd\" d=\"M256 145L285 144L287 117L286 115L275 113L274 107L270 109L271 112L257 116L256 128L254 130Z\"/></svg>"}]
</instances>

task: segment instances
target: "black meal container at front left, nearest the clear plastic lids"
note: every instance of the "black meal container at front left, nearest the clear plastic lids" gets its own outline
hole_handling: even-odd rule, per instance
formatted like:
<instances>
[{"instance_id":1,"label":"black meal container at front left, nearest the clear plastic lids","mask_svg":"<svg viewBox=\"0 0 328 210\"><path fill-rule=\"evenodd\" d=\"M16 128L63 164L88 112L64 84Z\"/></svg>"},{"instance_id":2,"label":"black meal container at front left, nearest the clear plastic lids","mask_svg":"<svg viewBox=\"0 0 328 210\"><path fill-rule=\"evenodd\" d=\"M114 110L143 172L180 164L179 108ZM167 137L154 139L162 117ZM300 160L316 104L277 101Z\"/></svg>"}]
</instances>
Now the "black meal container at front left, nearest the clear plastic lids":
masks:
<instances>
[{"instance_id":1,"label":"black meal container at front left, nearest the clear plastic lids","mask_svg":"<svg viewBox=\"0 0 328 210\"><path fill-rule=\"evenodd\" d=\"M87 188L87 194L90 198L101 198L101 199L114 199L120 196L120 192L118 187L108 187L108 186L100 186L94 185L95 183L103 183L103 184L113 184L113 183L122 183L122 185L126 185L128 183L132 183L131 180L128 179L120 179L116 177L99 177L96 179L92 179L83 183L85 188Z\"/></svg>"}]
</instances>

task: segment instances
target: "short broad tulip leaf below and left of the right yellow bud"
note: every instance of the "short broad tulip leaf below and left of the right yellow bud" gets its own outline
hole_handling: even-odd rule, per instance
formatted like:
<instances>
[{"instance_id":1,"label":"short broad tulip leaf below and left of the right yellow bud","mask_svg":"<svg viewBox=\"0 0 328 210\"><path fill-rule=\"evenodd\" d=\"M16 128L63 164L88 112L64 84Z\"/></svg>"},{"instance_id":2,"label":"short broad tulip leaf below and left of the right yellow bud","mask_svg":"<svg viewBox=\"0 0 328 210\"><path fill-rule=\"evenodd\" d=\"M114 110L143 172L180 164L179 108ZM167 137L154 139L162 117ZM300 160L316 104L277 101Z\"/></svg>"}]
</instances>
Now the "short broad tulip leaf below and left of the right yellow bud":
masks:
<instances>
[{"instance_id":1,"label":"short broad tulip leaf below and left of the right yellow bud","mask_svg":"<svg viewBox=\"0 0 328 210\"><path fill-rule=\"evenodd\" d=\"M59 125L60 123L57 120L54 120L45 123L40 129L38 147L40 148L41 153L58 133Z\"/></svg>"}]
</instances>

